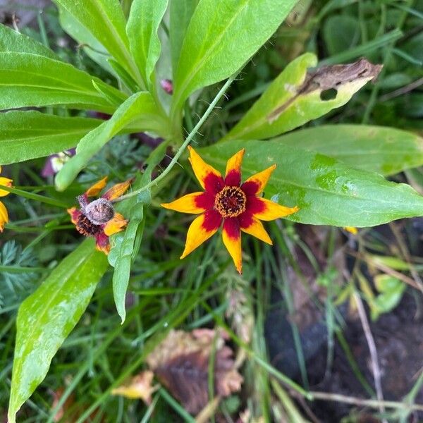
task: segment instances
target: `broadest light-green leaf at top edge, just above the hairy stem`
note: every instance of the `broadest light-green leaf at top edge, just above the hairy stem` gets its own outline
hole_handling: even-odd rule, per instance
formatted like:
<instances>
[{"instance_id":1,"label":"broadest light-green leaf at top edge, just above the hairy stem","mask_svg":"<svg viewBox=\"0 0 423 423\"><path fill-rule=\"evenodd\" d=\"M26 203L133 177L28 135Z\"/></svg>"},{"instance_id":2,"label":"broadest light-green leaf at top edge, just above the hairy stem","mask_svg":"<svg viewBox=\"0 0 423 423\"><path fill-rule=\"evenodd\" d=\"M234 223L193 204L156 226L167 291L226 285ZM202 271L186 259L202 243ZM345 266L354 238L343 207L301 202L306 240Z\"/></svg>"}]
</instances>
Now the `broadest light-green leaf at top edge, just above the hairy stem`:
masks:
<instances>
[{"instance_id":1,"label":"broadest light-green leaf at top edge, just above the hairy stem","mask_svg":"<svg viewBox=\"0 0 423 423\"><path fill-rule=\"evenodd\" d=\"M199 88L238 71L271 37L297 0L202 0L176 69L173 111Z\"/></svg>"}]
</instances>

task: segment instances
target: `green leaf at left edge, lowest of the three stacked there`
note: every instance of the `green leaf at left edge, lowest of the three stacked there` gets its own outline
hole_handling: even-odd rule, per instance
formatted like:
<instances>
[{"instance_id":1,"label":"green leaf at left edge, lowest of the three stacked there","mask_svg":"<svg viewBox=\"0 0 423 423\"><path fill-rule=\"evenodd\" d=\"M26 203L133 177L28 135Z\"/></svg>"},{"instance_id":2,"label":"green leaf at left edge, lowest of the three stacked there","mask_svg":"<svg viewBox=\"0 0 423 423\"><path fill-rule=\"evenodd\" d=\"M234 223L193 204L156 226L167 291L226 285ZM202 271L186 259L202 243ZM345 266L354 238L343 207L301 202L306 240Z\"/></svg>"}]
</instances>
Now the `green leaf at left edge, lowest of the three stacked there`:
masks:
<instances>
[{"instance_id":1,"label":"green leaf at left edge, lowest of the three stacked there","mask_svg":"<svg viewBox=\"0 0 423 423\"><path fill-rule=\"evenodd\" d=\"M39 111L0 114L0 163L18 163L63 152L103 121L62 118Z\"/></svg>"}]
</instances>

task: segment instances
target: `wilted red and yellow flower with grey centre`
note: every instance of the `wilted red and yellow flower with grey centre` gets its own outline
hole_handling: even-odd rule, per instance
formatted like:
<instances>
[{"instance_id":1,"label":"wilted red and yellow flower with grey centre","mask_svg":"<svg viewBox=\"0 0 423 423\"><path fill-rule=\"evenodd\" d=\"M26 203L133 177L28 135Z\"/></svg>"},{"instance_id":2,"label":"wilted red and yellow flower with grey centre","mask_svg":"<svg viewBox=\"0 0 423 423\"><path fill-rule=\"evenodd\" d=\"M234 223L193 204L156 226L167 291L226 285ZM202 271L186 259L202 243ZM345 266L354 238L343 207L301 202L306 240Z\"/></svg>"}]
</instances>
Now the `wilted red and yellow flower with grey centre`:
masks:
<instances>
[{"instance_id":1,"label":"wilted red and yellow flower with grey centre","mask_svg":"<svg viewBox=\"0 0 423 423\"><path fill-rule=\"evenodd\" d=\"M107 176L94 183L78 197L80 209L72 207L68 209L68 213L76 230L82 235L94 237L97 250L109 254L109 236L122 231L128 223L120 213L114 211L112 202L128 190L132 179L114 185L97 200L89 202L88 198L98 195L106 183Z\"/></svg>"}]
</instances>

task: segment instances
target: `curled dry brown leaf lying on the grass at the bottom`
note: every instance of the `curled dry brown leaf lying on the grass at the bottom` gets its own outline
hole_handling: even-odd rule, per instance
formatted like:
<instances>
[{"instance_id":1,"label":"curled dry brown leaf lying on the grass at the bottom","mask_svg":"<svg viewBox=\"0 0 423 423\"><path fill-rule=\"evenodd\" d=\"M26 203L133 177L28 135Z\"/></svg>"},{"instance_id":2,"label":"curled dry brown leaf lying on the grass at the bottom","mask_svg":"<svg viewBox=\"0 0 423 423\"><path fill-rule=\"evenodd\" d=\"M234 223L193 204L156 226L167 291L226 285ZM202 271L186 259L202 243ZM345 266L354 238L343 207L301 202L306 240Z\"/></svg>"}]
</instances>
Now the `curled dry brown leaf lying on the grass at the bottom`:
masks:
<instances>
[{"instance_id":1,"label":"curled dry brown leaf lying on the grass at the bottom","mask_svg":"<svg viewBox=\"0 0 423 423\"><path fill-rule=\"evenodd\" d=\"M235 369L223 331L171 331L147 357L161 383L192 414L209 402L209 360L214 348L214 393L226 397L240 391L243 378Z\"/></svg>"}]
</instances>

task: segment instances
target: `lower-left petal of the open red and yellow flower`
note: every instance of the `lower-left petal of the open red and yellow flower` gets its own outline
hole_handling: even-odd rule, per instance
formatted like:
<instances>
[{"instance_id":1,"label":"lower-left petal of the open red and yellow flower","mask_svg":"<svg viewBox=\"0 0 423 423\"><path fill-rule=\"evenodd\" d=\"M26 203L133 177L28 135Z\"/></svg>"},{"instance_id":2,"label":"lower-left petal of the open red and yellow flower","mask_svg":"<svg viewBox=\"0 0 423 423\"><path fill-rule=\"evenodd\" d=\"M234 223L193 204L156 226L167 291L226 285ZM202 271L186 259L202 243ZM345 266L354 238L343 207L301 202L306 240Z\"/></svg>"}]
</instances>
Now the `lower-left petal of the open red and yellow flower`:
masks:
<instances>
[{"instance_id":1,"label":"lower-left petal of the open red and yellow flower","mask_svg":"<svg viewBox=\"0 0 423 423\"><path fill-rule=\"evenodd\" d=\"M181 259L187 257L190 252L202 245L216 233L221 226L222 217L216 210L207 210L192 221L188 228L187 240L185 241L185 250L180 256Z\"/></svg>"}]
</instances>

